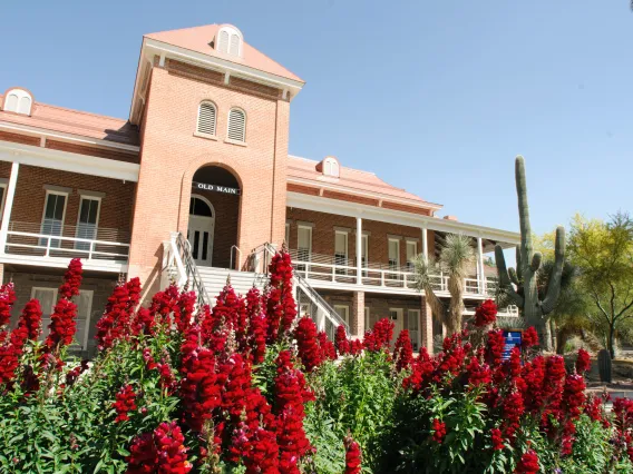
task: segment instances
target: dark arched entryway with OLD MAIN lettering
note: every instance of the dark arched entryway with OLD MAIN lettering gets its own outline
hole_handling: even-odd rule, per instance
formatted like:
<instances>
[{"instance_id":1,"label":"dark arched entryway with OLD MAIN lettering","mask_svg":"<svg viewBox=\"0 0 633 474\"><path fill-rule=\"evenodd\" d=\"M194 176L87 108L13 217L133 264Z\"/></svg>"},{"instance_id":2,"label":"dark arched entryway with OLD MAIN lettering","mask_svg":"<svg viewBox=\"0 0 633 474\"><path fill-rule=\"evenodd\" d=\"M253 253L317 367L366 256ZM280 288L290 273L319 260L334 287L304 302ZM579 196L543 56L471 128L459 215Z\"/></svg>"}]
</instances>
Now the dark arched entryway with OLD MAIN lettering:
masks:
<instances>
[{"instance_id":1,"label":"dark arched entryway with OLD MAIN lettering","mask_svg":"<svg viewBox=\"0 0 633 474\"><path fill-rule=\"evenodd\" d=\"M235 265L241 187L220 166L204 166L192 179L187 238L196 265L230 268Z\"/></svg>"}]
</instances>

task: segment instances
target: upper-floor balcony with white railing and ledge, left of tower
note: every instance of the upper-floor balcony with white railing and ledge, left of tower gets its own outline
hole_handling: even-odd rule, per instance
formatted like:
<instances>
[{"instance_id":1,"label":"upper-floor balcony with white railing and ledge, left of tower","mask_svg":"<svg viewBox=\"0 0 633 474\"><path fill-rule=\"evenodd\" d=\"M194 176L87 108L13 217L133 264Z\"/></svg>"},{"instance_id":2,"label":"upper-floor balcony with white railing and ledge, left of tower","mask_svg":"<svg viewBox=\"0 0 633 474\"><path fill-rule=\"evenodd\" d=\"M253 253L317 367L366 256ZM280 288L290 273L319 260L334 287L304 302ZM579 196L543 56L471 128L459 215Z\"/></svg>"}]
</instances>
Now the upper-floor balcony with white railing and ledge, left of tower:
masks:
<instances>
[{"instance_id":1,"label":"upper-floor balcony with white railing and ledge, left of tower","mask_svg":"<svg viewBox=\"0 0 633 474\"><path fill-rule=\"evenodd\" d=\"M129 238L129 231L123 229L47 227L40 223L12 220L0 261L65 268L71 258L81 258L85 269L125 273Z\"/></svg>"}]
</instances>

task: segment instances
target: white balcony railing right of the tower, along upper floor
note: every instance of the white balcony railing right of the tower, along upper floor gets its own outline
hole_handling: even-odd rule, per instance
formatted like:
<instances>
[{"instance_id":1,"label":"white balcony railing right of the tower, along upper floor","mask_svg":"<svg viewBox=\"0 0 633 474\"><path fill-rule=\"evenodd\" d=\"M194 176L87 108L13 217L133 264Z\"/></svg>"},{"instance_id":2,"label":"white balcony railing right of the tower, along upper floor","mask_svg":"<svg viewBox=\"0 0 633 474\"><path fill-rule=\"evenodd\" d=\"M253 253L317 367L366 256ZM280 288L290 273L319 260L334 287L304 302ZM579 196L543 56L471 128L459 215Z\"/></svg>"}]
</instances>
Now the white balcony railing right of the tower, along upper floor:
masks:
<instances>
[{"instance_id":1,"label":"white balcony railing right of the tower, along upper floor","mask_svg":"<svg viewBox=\"0 0 633 474\"><path fill-rule=\"evenodd\" d=\"M333 255L309 253L303 249L290 250L295 270L312 283L329 283L340 285L358 285L358 268L354 258L344 258ZM387 264L363 261L360 284L376 288L399 288L401 290L416 290L416 274L411 264L396 267ZM448 293L448 276L432 275L434 289ZM481 282L465 278L465 293L468 295L493 295L497 286L495 277L486 277Z\"/></svg>"}]
</instances>

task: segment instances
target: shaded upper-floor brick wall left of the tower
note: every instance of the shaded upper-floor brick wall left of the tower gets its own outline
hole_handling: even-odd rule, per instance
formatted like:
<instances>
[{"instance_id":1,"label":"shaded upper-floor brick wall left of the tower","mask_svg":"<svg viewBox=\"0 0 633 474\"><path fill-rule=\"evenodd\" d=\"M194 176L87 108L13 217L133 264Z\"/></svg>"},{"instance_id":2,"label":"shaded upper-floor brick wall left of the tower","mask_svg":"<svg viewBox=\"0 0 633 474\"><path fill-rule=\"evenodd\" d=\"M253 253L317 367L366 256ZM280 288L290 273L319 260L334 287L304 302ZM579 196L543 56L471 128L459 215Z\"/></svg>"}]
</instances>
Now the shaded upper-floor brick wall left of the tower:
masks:
<instances>
[{"instance_id":1,"label":"shaded upper-floor brick wall left of the tower","mask_svg":"<svg viewBox=\"0 0 633 474\"><path fill-rule=\"evenodd\" d=\"M10 162L0 162L0 177L9 178ZM78 190L104 192L99 213L99 227L121 231L121 237L129 238L132 203L136 185L118 179L100 178L77 172L59 171L20 165L16 196L11 210L11 221L29 223L38 229L41 224L46 200L45 185L71 188L66 205L65 225L77 225L80 196ZM69 235L75 237L75 235Z\"/></svg>"}]
</instances>

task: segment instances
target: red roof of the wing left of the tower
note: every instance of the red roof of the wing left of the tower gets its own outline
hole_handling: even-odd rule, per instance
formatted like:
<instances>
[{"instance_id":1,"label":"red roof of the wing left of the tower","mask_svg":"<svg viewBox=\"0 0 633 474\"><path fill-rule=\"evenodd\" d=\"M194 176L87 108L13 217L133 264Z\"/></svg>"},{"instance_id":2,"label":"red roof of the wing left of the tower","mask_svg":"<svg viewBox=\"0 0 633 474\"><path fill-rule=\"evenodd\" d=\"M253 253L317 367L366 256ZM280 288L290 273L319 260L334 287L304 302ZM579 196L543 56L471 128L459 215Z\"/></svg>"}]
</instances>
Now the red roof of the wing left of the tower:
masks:
<instances>
[{"instance_id":1,"label":"red roof of the wing left of the tower","mask_svg":"<svg viewBox=\"0 0 633 474\"><path fill-rule=\"evenodd\" d=\"M2 96L0 96L0 103L2 103ZM0 121L97 138L116 144L137 146L139 142L138 130L127 120L41 102L33 103L30 116L0 110Z\"/></svg>"}]
</instances>

